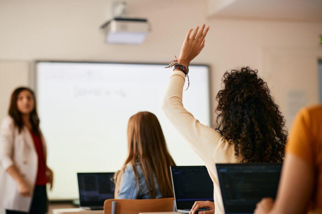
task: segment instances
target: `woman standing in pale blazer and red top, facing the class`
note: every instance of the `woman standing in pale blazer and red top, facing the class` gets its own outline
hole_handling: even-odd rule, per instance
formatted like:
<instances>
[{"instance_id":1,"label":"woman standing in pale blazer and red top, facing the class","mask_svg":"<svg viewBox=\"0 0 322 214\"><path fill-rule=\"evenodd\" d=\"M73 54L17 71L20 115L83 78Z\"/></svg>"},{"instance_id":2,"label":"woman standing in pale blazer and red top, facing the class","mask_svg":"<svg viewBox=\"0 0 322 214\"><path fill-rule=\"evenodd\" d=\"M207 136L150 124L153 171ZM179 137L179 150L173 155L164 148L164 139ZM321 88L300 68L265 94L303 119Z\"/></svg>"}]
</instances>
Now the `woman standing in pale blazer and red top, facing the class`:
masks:
<instances>
[{"instance_id":1,"label":"woman standing in pale blazer and red top, facing the class","mask_svg":"<svg viewBox=\"0 0 322 214\"><path fill-rule=\"evenodd\" d=\"M52 188L53 173L39 123L33 91L15 89L0 129L0 207L7 214L47 212L46 184Z\"/></svg>"}]
</instances>

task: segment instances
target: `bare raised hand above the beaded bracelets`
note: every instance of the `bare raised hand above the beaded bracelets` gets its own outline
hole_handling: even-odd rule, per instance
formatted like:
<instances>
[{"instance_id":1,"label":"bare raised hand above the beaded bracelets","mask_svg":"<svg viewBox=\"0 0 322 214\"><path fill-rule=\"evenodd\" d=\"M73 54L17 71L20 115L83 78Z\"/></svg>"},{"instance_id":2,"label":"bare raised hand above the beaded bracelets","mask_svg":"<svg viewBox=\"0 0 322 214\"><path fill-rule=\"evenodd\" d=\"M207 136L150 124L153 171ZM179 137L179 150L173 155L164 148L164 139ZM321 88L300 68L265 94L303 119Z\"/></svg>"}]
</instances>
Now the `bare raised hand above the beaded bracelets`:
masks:
<instances>
[{"instance_id":1,"label":"bare raised hand above the beaded bracelets","mask_svg":"<svg viewBox=\"0 0 322 214\"><path fill-rule=\"evenodd\" d=\"M194 33L191 35L193 29L190 29L187 33L185 41L182 45L180 57L178 63L181 65L189 66L191 60L193 60L200 51L204 48L205 37L209 30L209 26L205 29L205 24L201 26L199 31L199 26L194 30ZM190 37L191 35L191 37Z\"/></svg>"}]
</instances>

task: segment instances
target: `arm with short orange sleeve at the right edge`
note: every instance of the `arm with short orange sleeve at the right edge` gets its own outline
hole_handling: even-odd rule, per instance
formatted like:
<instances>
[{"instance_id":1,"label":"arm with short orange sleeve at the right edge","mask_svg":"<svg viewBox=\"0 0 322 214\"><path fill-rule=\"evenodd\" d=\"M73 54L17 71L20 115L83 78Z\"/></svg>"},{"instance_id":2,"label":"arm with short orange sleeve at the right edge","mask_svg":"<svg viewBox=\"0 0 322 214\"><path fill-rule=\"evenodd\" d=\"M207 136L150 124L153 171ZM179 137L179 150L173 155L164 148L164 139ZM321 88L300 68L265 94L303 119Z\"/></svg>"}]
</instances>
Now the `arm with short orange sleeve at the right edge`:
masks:
<instances>
[{"instance_id":1,"label":"arm with short orange sleeve at the right edge","mask_svg":"<svg viewBox=\"0 0 322 214\"><path fill-rule=\"evenodd\" d=\"M309 205L314 184L314 135L312 135L312 118L307 110L298 113L294 120L286 159L283 164L279 190L271 210L272 201L261 201L256 214L261 213L304 213ZM315 125L314 127L316 127Z\"/></svg>"}]
</instances>

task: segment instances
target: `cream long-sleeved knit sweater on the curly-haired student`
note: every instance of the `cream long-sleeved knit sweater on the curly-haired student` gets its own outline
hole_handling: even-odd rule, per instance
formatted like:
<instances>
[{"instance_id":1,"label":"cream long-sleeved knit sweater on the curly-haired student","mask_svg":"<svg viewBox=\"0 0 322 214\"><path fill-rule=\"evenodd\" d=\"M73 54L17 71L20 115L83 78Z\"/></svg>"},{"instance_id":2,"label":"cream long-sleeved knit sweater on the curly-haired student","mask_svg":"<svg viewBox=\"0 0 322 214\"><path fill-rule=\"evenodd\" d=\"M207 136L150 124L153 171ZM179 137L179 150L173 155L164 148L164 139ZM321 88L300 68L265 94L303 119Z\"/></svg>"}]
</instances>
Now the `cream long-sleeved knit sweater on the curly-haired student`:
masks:
<instances>
[{"instance_id":1,"label":"cream long-sleeved knit sweater on the curly-haired student","mask_svg":"<svg viewBox=\"0 0 322 214\"><path fill-rule=\"evenodd\" d=\"M242 157L236 158L234 145L230 145L218 131L201 124L190 112L185 110L182 103L184 84L185 74L175 70L170 77L162 109L175 129L204 161L213 180L215 214L221 214L224 213L224 209L215 164L239 163Z\"/></svg>"}]
</instances>

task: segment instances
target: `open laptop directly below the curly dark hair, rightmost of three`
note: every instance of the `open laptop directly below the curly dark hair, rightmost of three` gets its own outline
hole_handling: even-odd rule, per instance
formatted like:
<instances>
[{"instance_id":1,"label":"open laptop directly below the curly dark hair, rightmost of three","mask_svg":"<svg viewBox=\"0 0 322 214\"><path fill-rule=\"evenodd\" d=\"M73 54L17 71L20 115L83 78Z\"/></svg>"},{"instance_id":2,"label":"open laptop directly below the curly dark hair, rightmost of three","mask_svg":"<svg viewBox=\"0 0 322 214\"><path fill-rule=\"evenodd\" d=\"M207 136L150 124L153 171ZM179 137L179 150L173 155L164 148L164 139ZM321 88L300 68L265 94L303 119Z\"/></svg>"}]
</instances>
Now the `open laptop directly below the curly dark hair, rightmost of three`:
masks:
<instances>
[{"instance_id":1,"label":"open laptop directly below the curly dark hair, rightmost of three","mask_svg":"<svg viewBox=\"0 0 322 214\"><path fill-rule=\"evenodd\" d=\"M281 167L281 164L216 164L225 213L253 213L262 198L275 198Z\"/></svg>"}]
</instances>

